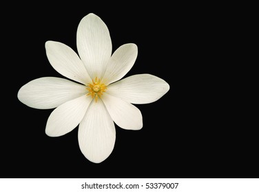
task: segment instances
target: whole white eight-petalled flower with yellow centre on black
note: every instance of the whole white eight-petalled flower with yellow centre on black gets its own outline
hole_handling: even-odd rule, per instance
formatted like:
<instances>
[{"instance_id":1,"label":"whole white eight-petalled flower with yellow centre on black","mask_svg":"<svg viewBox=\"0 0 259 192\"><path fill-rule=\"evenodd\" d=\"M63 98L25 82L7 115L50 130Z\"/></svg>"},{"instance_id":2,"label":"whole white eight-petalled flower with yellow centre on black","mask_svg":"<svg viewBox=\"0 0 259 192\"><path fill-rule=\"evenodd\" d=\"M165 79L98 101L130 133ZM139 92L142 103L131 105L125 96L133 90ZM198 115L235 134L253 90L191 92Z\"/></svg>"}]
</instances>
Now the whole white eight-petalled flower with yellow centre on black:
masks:
<instances>
[{"instance_id":1,"label":"whole white eight-petalled flower with yellow centre on black","mask_svg":"<svg viewBox=\"0 0 259 192\"><path fill-rule=\"evenodd\" d=\"M140 130L141 111L132 104L158 100L169 91L169 84L149 74L121 80L132 68L138 49L128 43L112 54L109 30L95 14L87 14L79 23L76 45L80 58L63 43L47 41L45 49L52 67L80 84L41 77L22 86L18 98L32 108L56 108L47 121L48 136L62 136L79 125L81 152L101 163L114 148L114 122L126 130Z\"/></svg>"}]
</instances>

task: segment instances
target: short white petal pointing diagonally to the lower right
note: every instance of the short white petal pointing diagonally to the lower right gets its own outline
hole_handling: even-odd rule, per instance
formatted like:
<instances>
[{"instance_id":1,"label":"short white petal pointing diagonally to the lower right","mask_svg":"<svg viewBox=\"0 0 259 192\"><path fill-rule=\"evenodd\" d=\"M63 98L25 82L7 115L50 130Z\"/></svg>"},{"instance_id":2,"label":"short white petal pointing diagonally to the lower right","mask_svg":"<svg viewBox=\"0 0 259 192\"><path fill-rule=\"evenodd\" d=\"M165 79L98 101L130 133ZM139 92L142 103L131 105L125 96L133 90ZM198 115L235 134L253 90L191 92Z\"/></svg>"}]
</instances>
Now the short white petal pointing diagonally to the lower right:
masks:
<instances>
[{"instance_id":1,"label":"short white petal pointing diagonally to the lower right","mask_svg":"<svg viewBox=\"0 0 259 192\"><path fill-rule=\"evenodd\" d=\"M112 120L126 130L140 130L143 127L141 111L123 99L105 94L102 97Z\"/></svg>"}]
</instances>

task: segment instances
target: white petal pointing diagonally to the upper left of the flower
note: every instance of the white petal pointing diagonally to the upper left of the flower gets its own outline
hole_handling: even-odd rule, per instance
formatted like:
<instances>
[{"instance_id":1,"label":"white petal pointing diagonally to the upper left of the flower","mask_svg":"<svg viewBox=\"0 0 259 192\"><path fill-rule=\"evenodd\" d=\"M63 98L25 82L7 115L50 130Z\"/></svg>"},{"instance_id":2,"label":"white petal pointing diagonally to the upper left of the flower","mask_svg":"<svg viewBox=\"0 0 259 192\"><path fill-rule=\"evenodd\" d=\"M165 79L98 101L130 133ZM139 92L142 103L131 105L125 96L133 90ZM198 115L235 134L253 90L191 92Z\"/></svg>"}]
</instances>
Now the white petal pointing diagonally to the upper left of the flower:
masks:
<instances>
[{"instance_id":1,"label":"white petal pointing diagonally to the upper left of the flower","mask_svg":"<svg viewBox=\"0 0 259 192\"><path fill-rule=\"evenodd\" d=\"M91 82L83 62L79 56L67 45L55 41L47 41L45 49L52 67L65 77L87 84Z\"/></svg>"}]
</instances>

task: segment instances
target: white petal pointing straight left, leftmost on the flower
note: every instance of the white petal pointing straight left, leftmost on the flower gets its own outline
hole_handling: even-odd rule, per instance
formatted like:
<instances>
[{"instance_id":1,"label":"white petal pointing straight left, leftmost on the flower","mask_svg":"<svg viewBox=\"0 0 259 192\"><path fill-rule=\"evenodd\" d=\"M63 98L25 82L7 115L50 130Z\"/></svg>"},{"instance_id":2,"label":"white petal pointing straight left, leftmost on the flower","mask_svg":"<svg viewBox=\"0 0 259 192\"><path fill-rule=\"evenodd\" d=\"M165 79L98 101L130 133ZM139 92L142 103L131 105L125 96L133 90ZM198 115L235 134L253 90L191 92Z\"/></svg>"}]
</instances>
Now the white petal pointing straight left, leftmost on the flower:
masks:
<instances>
[{"instance_id":1,"label":"white petal pointing straight left, leftmost on the flower","mask_svg":"<svg viewBox=\"0 0 259 192\"><path fill-rule=\"evenodd\" d=\"M56 108L86 93L85 86L58 77L41 77L23 85L18 99L32 108Z\"/></svg>"}]
</instances>

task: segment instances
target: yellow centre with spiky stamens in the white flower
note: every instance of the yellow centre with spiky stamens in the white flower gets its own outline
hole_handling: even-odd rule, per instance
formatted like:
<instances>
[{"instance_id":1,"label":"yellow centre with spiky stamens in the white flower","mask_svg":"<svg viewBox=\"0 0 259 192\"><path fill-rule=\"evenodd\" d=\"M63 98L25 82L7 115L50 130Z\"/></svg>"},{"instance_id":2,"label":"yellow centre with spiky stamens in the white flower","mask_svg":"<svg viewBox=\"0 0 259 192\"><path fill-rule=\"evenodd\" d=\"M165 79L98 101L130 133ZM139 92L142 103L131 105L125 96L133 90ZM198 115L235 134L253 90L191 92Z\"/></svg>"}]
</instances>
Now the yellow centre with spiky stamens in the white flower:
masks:
<instances>
[{"instance_id":1,"label":"yellow centre with spiky stamens in the white flower","mask_svg":"<svg viewBox=\"0 0 259 192\"><path fill-rule=\"evenodd\" d=\"M101 98L101 95L103 95L103 92L105 92L107 88L105 84L101 84L101 80L99 80L98 77L95 77L95 79L92 80L92 83L87 84L86 89L89 91L87 95L91 95L92 98L97 102L98 97Z\"/></svg>"}]
</instances>

